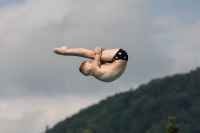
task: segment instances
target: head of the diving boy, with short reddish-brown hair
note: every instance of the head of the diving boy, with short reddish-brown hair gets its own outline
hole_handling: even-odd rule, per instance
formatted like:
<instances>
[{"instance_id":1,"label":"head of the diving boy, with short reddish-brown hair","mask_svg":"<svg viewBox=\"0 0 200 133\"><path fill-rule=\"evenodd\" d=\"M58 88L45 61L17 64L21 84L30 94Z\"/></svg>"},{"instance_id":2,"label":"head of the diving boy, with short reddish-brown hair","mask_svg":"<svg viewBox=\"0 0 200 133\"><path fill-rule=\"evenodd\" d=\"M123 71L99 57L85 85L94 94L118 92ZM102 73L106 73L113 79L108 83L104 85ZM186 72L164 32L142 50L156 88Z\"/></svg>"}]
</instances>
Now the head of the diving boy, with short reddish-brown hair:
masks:
<instances>
[{"instance_id":1,"label":"head of the diving boy, with short reddish-brown hair","mask_svg":"<svg viewBox=\"0 0 200 133\"><path fill-rule=\"evenodd\" d=\"M88 76L88 75L91 75L91 67L92 67L92 62L91 61L84 61L80 67L79 67L79 71L85 75L85 76Z\"/></svg>"}]
</instances>

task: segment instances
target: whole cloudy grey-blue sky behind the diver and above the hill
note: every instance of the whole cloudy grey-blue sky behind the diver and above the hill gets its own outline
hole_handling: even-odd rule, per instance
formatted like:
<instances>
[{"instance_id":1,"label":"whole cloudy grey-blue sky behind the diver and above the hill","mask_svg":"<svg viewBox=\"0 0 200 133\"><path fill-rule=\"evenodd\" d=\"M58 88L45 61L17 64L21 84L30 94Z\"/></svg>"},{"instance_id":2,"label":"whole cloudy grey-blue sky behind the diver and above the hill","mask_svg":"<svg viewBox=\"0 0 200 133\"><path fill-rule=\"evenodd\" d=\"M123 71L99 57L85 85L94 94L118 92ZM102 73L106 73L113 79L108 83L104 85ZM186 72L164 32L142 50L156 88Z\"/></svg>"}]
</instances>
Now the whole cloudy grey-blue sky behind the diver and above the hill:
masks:
<instances>
[{"instance_id":1,"label":"whole cloudy grey-blue sky behind the diver and above the hill","mask_svg":"<svg viewBox=\"0 0 200 133\"><path fill-rule=\"evenodd\" d=\"M1 0L0 132L46 125L153 78L200 66L197 0ZM125 73L111 83L78 71L84 58L54 47L123 48Z\"/></svg>"}]
</instances>

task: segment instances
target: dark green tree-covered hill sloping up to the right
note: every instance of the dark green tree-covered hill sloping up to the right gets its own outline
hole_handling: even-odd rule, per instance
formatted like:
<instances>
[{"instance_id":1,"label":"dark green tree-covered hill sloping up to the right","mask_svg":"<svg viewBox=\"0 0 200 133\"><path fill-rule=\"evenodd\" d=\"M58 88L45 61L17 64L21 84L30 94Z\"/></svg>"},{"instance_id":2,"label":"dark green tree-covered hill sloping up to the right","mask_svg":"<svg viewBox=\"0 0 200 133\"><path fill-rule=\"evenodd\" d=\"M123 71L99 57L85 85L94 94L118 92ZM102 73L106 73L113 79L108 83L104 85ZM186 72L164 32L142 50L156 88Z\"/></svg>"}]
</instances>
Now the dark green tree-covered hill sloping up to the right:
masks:
<instances>
[{"instance_id":1,"label":"dark green tree-covered hill sloping up to the right","mask_svg":"<svg viewBox=\"0 0 200 133\"><path fill-rule=\"evenodd\" d=\"M164 133L170 115L181 133L200 133L200 68L108 97L46 133Z\"/></svg>"}]
</instances>

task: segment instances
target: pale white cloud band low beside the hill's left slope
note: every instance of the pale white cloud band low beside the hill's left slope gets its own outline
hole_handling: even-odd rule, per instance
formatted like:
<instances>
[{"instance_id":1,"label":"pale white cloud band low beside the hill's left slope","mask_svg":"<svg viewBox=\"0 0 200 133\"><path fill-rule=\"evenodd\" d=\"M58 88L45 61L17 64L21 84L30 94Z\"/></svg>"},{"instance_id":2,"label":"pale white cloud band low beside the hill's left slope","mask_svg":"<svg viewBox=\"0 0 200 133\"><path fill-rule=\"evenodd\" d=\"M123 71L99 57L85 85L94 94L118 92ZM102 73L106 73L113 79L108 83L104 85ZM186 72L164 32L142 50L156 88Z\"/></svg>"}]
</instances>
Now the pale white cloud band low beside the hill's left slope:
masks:
<instances>
[{"instance_id":1,"label":"pale white cloud band low beside the hill's left slope","mask_svg":"<svg viewBox=\"0 0 200 133\"><path fill-rule=\"evenodd\" d=\"M63 96L38 97L24 100L1 100L1 132L39 133L45 126L53 127L60 120L71 116L82 108L97 103L97 97ZM12 127L12 128L11 128Z\"/></svg>"}]
</instances>

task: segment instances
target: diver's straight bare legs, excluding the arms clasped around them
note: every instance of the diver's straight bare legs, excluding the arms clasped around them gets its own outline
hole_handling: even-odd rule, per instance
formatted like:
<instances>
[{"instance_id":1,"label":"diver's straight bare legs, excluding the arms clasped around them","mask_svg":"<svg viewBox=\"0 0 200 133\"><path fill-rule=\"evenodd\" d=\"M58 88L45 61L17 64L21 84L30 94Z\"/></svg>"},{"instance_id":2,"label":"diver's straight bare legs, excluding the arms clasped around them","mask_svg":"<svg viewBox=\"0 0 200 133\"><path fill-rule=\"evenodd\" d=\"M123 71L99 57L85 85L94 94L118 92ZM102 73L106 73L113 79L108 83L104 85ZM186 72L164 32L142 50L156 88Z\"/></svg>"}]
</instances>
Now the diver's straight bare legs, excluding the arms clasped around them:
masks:
<instances>
[{"instance_id":1,"label":"diver's straight bare legs, excluding the arms clasped around them","mask_svg":"<svg viewBox=\"0 0 200 133\"><path fill-rule=\"evenodd\" d=\"M106 49L102 51L101 61L111 62L115 54L119 49ZM56 54L65 55L65 56L78 56L89 59L95 58L95 53L92 50L85 48L74 48L69 49L67 46L63 46L61 48L54 48L54 52Z\"/></svg>"}]
</instances>

